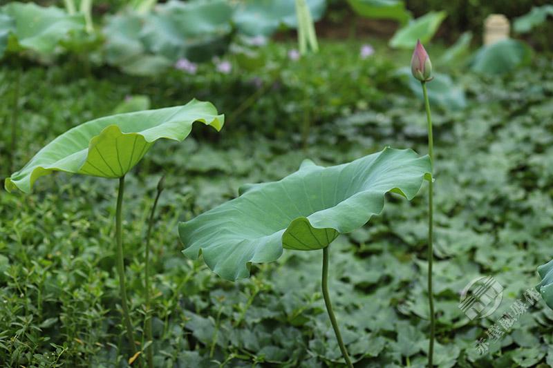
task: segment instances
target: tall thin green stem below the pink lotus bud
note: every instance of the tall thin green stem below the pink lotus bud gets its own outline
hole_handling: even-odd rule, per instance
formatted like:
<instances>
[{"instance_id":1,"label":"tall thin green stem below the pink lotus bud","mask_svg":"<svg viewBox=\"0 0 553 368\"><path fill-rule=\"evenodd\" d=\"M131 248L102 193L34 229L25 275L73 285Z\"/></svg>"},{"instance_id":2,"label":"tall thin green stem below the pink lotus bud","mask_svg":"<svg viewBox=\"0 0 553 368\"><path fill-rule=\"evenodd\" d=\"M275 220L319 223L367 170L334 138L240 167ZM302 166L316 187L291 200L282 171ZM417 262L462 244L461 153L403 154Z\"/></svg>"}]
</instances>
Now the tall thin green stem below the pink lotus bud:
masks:
<instances>
[{"instance_id":1,"label":"tall thin green stem below the pink lotus bud","mask_svg":"<svg viewBox=\"0 0 553 368\"><path fill-rule=\"evenodd\" d=\"M434 258L433 251L433 166L434 166L434 141L432 136L432 116L430 113L430 102L427 93L426 82L421 82L422 94L424 95L424 107L427 110L428 121L428 154L430 156L430 163L432 169L432 178L429 182L428 192L428 304L430 308L430 340L428 347L428 366L433 367L433 355L434 355L434 336L435 336L435 316L434 316L434 298L432 291L432 263Z\"/></svg>"}]
</instances>

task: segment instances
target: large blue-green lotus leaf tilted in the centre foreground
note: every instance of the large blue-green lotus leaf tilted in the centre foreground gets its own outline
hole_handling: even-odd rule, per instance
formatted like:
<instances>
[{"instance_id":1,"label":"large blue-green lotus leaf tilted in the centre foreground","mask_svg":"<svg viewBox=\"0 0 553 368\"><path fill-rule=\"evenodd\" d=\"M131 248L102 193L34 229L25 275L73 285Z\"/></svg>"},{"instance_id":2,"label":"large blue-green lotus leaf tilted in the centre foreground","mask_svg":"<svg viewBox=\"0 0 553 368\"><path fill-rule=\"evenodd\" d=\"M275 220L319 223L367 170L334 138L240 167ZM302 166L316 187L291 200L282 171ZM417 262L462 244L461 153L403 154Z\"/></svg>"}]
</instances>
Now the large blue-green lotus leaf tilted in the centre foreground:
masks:
<instances>
[{"instance_id":1,"label":"large blue-green lotus leaf tilted in the centre foreground","mask_svg":"<svg viewBox=\"0 0 553 368\"><path fill-rule=\"evenodd\" d=\"M379 214L384 195L411 199L429 175L429 157L384 151L348 164L305 161L279 182L251 184L240 197L180 223L183 253L227 280L245 278L253 263L277 260L285 249L322 249Z\"/></svg>"}]
</instances>

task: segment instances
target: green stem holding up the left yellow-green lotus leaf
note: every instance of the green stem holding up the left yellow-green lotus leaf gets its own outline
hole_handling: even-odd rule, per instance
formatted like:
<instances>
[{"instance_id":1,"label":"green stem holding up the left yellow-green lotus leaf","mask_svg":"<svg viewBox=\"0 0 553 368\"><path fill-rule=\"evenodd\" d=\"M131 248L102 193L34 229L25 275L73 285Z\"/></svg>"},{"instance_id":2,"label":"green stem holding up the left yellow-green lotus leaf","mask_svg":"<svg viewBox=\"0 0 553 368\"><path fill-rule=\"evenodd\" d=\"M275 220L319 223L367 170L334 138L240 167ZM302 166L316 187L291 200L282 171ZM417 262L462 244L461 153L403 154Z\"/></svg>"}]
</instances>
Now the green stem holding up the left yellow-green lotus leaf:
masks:
<instances>
[{"instance_id":1,"label":"green stem holding up the left yellow-green lotus leaf","mask_svg":"<svg viewBox=\"0 0 553 368\"><path fill-rule=\"evenodd\" d=\"M119 191L117 195L117 209L115 210L115 241L117 242L117 271L119 273L119 287L121 293L121 307L123 309L123 322L126 327L126 336L129 338L131 353L136 354L136 346L133 338L133 324L129 315L129 305L126 304L125 287L125 265L123 261L123 241L121 235L121 209L123 204L123 193L125 190L124 175L119 178Z\"/></svg>"}]
</instances>

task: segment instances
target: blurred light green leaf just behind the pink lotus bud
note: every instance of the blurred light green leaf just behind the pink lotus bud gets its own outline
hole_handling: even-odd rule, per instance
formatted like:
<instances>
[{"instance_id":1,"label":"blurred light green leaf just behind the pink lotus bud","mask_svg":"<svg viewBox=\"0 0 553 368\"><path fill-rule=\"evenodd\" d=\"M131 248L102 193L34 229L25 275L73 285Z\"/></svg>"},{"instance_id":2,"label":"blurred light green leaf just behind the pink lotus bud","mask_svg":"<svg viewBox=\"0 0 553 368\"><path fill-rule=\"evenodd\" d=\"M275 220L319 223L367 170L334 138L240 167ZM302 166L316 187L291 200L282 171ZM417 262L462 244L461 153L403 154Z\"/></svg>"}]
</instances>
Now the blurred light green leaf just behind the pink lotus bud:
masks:
<instances>
[{"instance_id":1,"label":"blurred light green leaf just behind the pink lotus bud","mask_svg":"<svg viewBox=\"0 0 553 368\"><path fill-rule=\"evenodd\" d=\"M422 17L409 22L407 26L397 30L390 40L390 46L393 48L412 49L415 47L418 39L422 43L430 41L445 17L447 17L446 12L429 12L424 14Z\"/></svg>"}]
</instances>

